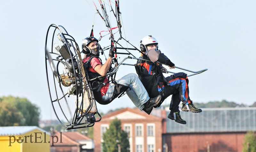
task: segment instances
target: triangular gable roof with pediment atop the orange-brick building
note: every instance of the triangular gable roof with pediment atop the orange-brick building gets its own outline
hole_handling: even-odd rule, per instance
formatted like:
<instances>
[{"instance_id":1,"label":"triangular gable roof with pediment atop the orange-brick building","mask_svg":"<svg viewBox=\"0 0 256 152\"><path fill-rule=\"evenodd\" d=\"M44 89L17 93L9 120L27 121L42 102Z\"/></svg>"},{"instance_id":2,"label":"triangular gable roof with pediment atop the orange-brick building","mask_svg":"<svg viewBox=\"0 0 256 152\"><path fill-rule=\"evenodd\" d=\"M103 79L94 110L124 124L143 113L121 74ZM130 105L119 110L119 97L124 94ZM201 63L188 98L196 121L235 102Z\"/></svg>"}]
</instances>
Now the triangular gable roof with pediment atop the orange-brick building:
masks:
<instances>
[{"instance_id":1,"label":"triangular gable roof with pediment atop the orange-brick building","mask_svg":"<svg viewBox=\"0 0 256 152\"><path fill-rule=\"evenodd\" d=\"M131 109L131 108L124 108L117 110L115 112L109 113L107 115L102 116L101 121L108 121L109 119L120 119L120 120L125 120L125 119L147 119L147 120L162 120L163 118L153 116L153 115L148 115L144 111L140 111L139 109Z\"/></svg>"}]
</instances>

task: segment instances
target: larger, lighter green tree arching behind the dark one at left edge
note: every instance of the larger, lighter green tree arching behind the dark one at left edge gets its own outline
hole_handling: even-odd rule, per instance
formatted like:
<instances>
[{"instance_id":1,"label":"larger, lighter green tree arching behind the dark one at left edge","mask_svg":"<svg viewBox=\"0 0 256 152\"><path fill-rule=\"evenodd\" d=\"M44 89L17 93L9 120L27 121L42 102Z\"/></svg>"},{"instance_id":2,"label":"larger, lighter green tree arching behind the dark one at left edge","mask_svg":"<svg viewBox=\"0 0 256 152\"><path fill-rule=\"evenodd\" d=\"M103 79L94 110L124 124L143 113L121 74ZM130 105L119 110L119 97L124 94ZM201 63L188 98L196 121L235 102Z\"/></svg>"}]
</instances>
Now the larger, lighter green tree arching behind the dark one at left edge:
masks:
<instances>
[{"instance_id":1,"label":"larger, lighter green tree arching behind the dark one at left edge","mask_svg":"<svg viewBox=\"0 0 256 152\"><path fill-rule=\"evenodd\" d=\"M0 104L7 103L8 105L15 107L22 118L24 118L19 125L36 125L40 118L40 109L35 104L32 104L27 98L3 96L0 97ZM13 112L13 111L12 111Z\"/></svg>"}]
</instances>

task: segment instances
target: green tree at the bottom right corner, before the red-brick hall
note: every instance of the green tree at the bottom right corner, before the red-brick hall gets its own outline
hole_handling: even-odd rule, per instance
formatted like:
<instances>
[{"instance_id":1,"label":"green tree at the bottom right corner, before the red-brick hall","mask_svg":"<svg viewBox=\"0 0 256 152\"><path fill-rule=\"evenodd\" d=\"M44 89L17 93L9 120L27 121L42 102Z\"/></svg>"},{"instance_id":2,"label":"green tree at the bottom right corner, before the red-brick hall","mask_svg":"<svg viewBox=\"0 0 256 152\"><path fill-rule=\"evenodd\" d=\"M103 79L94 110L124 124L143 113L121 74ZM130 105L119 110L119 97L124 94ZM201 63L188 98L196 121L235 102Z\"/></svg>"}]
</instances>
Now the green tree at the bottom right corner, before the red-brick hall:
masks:
<instances>
[{"instance_id":1,"label":"green tree at the bottom right corner, before the red-brick hall","mask_svg":"<svg viewBox=\"0 0 256 152\"><path fill-rule=\"evenodd\" d=\"M247 132L244 137L243 152L256 152L256 133Z\"/></svg>"}]
</instances>

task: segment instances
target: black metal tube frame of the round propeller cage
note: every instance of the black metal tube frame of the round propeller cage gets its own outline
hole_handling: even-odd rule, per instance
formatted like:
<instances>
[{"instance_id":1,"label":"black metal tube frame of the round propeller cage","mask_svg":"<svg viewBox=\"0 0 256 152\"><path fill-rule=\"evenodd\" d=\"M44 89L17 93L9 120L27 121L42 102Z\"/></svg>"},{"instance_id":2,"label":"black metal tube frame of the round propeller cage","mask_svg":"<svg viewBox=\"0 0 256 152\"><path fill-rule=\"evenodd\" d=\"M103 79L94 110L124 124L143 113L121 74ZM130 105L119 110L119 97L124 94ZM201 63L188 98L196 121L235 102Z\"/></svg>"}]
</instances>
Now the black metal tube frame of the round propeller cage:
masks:
<instances>
[{"instance_id":1,"label":"black metal tube frame of the round propeller cage","mask_svg":"<svg viewBox=\"0 0 256 152\"><path fill-rule=\"evenodd\" d=\"M55 28L54 31L53 31L52 37L54 36L56 29L59 29L59 31L61 32L61 34L62 34L63 37L64 37L64 43L66 43L67 46L68 46L69 54L71 55L71 50L70 50L70 48L72 47L72 49L74 50L74 56L73 56L73 57L75 57L75 58L77 59L77 62L78 62L79 57L77 56L77 53L76 53L76 50L77 50L77 52L79 52L78 45L77 45L77 43L75 42L75 39L74 39L71 35L69 35L68 32L66 31L66 29L65 29L64 27L62 27L62 26L58 26L58 25L56 25L56 24L51 24L51 25L49 26L49 28L48 28L48 30L47 30L47 34L46 34L45 51L47 51L47 49L46 49L46 47L47 47L47 38L48 38L48 35L50 35L49 30L50 30L51 27L54 27L54 28ZM63 28L63 30L64 30L65 33L62 32L62 30L60 29L60 27ZM65 36L69 36L70 38L66 38ZM52 42L51 42L50 45L51 45L51 47L53 46L53 38L52 38ZM64 45L65 45L65 44L64 44ZM52 48L53 48L53 47L52 47ZM77 111L77 110L78 110L78 96L76 95L76 100L77 100L77 102L76 102L76 110L75 110L75 112L74 112L73 120L68 120L68 119L67 119L66 115L64 114L64 111L62 110L62 107L61 107L61 105L60 105L59 100L65 98L65 101L66 101L66 103L67 103L66 95L68 95L68 94L64 94L60 82L59 82L59 84L55 84L55 77L54 77L54 74L53 74L53 81L54 81L55 94L56 94L57 99L52 100L52 95L51 95L50 85L49 85L49 79L48 79L48 74L50 74L50 73L49 73L48 70L47 70L47 60L48 60L48 61L52 60L51 57L49 57L50 54L52 53L52 54L55 54L55 55L59 55L58 57L56 57L56 59L53 59L53 60L58 61L58 64L59 64L60 62L61 62L62 64L65 64L65 63L62 61L62 59L60 59L61 55L58 54L58 53L54 53L53 50L52 50L52 48L51 48L51 51L45 52L45 68L46 68L46 78L47 78L48 91L49 91L49 95L50 95L50 99L51 99L51 103L52 103L52 108L53 108L53 111L54 111L54 113L55 113L55 115L56 115L58 121L60 122L60 124L61 124L62 126L66 127L67 130L93 126L95 122L98 122L98 121L101 120L101 116L100 116L100 113L99 113L98 110L97 110L97 105L96 105L96 103L95 103L95 98L94 98L93 92L92 92L92 90L91 90L90 83L88 83L88 81L87 81L87 79L86 79L86 78L87 78L86 76L84 76L84 78L85 78L85 83L86 83L86 84L84 84L84 85L85 85L84 87L87 88L88 95L90 94L91 100L90 100L90 105L89 105L88 108L86 109L85 113L81 113L81 114L80 114L80 112ZM47 53L48 53L48 54L47 54ZM58 67L58 64L57 64L57 67ZM72 60L72 64L73 64L73 67L74 67L74 62L73 62L73 60ZM55 66L54 66L54 67L55 67ZM80 68L78 68L78 74L79 74L79 73L81 73ZM60 73L59 73L58 70L57 70L57 74L58 74L58 77L59 77ZM81 74L79 74L79 77L80 77L80 78L78 78L78 77L76 76L76 72L75 72L75 71L74 71L74 74L75 74L75 78L76 78L75 84L76 84L76 90L77 90L77 84L78 84L78 83L81 83L82 86L83 86L83 83L82 83L81 80L83 80L84 78L82 78ZM78 81L79 81L79 82L78 82ZM58 95L57 95L56 85L59 85L59 86L60 86L60 89L61 89L62 94L63 94L63 96L60 97L60 98L59 98ZM82 92L81 92L82 96L84 95L84 94L83 94L83 90L84 90L84 89L81 90L81 91L82 91ZM58 115L57 115L57 113L56 113L56 111L55 111L54 105L53 105L53 102L56 102L56 101L58 102L58 105L60 106L60 110L61 110L63 116L65 117L65 119L67 120L66 122L68 122L68 125L63 124L63 123L60 121L60 119L59 119L59 117L58 117ZM98 118L97 120L93 121L93 122L86 122L86 121L85 121L85 123L81 123L81 121L83 120L83 118L84 118L84 117L89 113L89 111L92 109L93 102L95 103L95 108L96 108L96 112L95 112L94 114L95 114L95 115L98 114L98 115L99 115L99 118ZM83 99L82 99L82 103L83 103ZM83 105L83 104L81 104L80 107L79 107L80 110L83 110L83 107L81 107L82 105ZM68 106L68 104L67 104L67 106ZM72 116L72 114L70 114L70 116ZM83 126L82 126L82 125L83 125Z\"/></svg>"}]
</instances>

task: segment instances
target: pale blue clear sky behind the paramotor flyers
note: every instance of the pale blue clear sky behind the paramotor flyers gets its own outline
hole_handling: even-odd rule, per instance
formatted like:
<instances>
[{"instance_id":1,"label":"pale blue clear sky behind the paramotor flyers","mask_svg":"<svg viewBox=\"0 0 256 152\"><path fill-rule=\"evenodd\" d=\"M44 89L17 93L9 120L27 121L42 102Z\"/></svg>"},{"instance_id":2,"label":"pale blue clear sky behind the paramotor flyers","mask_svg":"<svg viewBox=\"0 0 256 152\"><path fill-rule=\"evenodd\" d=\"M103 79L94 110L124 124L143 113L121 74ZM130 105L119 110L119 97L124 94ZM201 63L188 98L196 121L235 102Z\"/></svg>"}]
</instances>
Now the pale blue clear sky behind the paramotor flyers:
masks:
<instances>
[{"instance_id":1,"label":"pale blue clear sky behind the paramotor flyers","mask_svg":"<svg viewBox=\"0 0 256 152\"><path fill-rule=\"evenodd\" d=\"M95 3L100 9L98 1ZM253 0L120 0L122 34L137 48L144 36L152 35L176 66L193 71L207 68L208 71L189 77L193 102L227 100L251 105L256 101L255 7ZM45 72L47 29L52 23L62 25L81 44L94 23L94 36L99 38L106 27L95 12L89 0L3 1L0 96L26 97L40 107L41 119L56 119ZM115 20L111 19L111 23L116 26ZM107 37L100 41L101 46L109 43ZM140 56L137 51L132 54ZM127 73L135 73L134 68L120 66L116 78ZM164 104L170 100L167 98ZM97 104L101 112L122 107L134 107L127 95L108 105Z\"/></svg>"}]
</instances>

